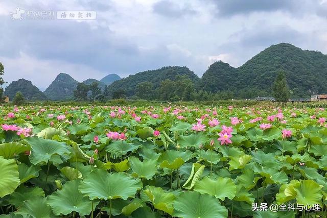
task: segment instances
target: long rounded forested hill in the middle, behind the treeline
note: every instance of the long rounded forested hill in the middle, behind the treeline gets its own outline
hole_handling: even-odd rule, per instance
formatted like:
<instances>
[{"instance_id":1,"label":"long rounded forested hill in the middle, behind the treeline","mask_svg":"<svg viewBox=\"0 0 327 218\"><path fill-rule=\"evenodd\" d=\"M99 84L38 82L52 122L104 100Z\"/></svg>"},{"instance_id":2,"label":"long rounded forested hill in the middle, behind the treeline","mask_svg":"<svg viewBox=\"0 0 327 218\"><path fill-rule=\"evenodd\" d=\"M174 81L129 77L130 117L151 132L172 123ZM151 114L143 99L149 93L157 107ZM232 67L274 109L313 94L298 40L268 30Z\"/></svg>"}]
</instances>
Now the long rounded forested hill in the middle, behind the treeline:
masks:
<instances>
[{"instance_id":1,"label":"long rounded forested hill in the middle, behind the treeline","mask_svg":"<svg viewBox=\"0 0 327 218\"><path fill-rule=\"evenodd\" d=\"M155 90L160 86L162 81L167 79L174 81L178 75L185 75L193 82L199 80L198 76L188 67L167 66L160 69L138 72L135 75L130 75L127 78L114 81L108 86L108 89L111 94L117 90L124 90L127 96L132 96L136 94L136 86L139 83L149 82L148 85L151 86L152 90Z\"/></svg>"}]
</instances>

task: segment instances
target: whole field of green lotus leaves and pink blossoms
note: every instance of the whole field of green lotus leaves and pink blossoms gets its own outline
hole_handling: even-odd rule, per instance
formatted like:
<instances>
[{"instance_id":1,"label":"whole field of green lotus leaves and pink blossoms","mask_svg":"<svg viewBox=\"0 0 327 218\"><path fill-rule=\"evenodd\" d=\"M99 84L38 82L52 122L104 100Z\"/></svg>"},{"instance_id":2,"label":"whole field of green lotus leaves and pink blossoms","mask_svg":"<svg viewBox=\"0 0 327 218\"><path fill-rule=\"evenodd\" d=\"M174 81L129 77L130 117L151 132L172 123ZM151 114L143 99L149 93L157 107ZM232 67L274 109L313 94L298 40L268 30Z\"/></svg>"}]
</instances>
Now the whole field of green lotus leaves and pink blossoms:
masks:
<instances>
[{"instance_id":1,"label":"whole field of green lotus leaves and pink blossoms","mask_svg":"<svg viewBox=\"0 0 327 218\"><path fill-rule=\"evenodd\" d=\"M323 108L1 113L0 217L327 217Z\"/></svg>"}]
</instances>

